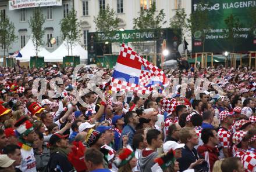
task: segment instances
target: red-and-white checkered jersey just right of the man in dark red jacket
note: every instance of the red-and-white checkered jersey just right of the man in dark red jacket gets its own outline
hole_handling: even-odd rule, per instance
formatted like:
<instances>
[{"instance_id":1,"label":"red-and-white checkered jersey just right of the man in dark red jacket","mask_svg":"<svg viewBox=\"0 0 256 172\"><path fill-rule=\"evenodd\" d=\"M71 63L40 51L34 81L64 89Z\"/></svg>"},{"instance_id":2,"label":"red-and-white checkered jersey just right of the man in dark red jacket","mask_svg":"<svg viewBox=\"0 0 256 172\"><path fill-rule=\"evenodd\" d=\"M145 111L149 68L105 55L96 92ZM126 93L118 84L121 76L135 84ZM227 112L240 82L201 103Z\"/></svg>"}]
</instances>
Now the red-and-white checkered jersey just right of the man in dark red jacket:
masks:
<instances>
[{"instance_id":1,"label":"red-and-white checkered jersey just right of the man in dark red jacket","mask_svg":"<svg viewBox=\"0 0 256 172\"><path fill-rule=\"evenodd\" d=\"M223 153L223 148L232 149L232 134L227 131L226 129L223 129L221 127L218 130L218 137L219 137L219 148L222 148L221 151L219 151L219 158L225 158Z\"/></svg>"}]
</instances>

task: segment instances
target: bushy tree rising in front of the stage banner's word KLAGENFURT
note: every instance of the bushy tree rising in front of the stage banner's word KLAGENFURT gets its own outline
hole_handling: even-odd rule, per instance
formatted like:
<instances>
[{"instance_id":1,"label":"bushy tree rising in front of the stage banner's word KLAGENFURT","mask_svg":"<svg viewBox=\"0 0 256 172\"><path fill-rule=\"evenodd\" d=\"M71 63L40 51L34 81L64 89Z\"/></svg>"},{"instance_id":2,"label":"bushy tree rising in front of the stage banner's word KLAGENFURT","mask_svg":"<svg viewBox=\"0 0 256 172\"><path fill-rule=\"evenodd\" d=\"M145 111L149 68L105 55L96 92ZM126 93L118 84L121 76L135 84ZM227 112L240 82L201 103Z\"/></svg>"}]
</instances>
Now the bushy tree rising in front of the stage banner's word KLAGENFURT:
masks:
<instances>
[{"instance_id":1,"label":"bushy tree rising in front of the stage banner's word KLAGENFURT","mask_svg":"<svg viewBox=\"0 0 256 172\"><path fill-rule=\"evenodd\" d=\"M165 13L163 12L163 9L157 13L157 8L155 6L155 3L152 4L151 8L143 10L140 10L140 16L133 19L133 28L140 30L140 32L148 32L153 31L154 32L154 51L155 51L155 41L157 40L160 30L163 24L166 23L165 19ZM143 43L144 46L144 43Z\"/></svg>"}]
</instances>

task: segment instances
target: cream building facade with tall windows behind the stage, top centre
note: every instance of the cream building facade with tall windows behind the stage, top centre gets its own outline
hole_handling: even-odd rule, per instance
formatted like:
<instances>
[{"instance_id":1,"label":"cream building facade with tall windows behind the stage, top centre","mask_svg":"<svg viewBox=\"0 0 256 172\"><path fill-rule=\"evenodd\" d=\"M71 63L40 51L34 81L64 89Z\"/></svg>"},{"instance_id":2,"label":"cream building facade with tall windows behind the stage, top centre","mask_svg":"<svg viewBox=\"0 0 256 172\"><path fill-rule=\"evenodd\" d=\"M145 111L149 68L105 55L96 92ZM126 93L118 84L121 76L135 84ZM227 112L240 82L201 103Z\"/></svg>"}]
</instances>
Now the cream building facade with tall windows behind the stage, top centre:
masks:
<instances>
[{"instance_id":1,"label":"cream building facade with tall windows behind the stage, top centre","mask_svg":"<svg viewBox=\"0 0 256 172\"><path fill-rule=\"evenodd\" d=\"M155 3L157 10L163 9L166 14L166 24L162 28L168 28L170 19L175 16L178 6L185 9L187 15L191 13L191 0L76 0L74 1L74 9L77 10L77 17L81 23L81 45L87 47L87 32L95 32L96 27L94 17L97 17L99 8L106 8L108 4L114 9L120 19L119 28L124 30L133 30L133 19L137 18L140 10L150 8ZM191 38L187 36L187 42L191 42ZM189 43L189 49L191 43Z\"/></svg>"}]
</instances>

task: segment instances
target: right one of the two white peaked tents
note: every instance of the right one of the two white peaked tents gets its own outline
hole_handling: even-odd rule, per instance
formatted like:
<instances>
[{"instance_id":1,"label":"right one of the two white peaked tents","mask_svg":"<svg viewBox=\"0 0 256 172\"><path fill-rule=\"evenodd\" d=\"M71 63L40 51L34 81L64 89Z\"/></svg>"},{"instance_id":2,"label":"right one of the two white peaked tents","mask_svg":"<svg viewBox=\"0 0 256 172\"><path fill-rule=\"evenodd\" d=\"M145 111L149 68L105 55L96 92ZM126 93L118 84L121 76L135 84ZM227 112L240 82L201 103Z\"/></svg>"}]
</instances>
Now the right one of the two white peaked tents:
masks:
<instances>
[{"instance_id":1,"label":"right one of the two white peaked tents","mask_svg":"<svg viewBox=\"0 0 256 172\"><path fill-rule=\"evenodd\" d=\"M67 54L71 56L71 49L69 49L69 53L68 53L66 42L63 42L58 47L58 49L56 49L54 52L49 54L49 56L46 56L46 58L44 58L44 61L45 62L62 62L63 57L67 56ZM83 49L83 47L81 47L79 43L77 43L77 45L73 47L73 56L80 56L80 63L84 63L87 60L87 50Z\"/></svg>"}]
</instances>

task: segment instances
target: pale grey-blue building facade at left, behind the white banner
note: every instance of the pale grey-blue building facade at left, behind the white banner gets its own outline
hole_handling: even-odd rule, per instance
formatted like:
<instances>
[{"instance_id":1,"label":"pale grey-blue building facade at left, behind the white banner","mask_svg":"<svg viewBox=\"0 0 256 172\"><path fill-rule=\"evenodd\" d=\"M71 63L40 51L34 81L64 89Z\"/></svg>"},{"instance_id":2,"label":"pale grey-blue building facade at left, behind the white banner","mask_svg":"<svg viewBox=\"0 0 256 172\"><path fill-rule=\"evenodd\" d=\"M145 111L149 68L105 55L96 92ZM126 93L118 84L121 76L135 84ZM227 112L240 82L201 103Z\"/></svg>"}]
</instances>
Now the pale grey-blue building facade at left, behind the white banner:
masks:
<instances>
[{"instance_id":1,"label":"pale grey-blue building facade at left, behind the white banner","mask_svg":"<svg viewBox=\"0 0 256 172\"><path fill-rule=\"evenodd\" d=\"M9 10L7 0L0 0L0 11L4 12L15 25L15 34L17 36L16 42L14 42L9 50L10 53L16 52L22 49L29 41L31 36L31 29L29 27L29 20L33 14L33 8L23 8ZM62 6L43 6L41 7L44 14L45 23L43 25L44 34L44 47L53 52L62 43L61 39L61 20L66 17L67 13L73 8L72 0L63 0ZM52 45L49 40L54 37L56 43ZM7 54L5 52L5 54ZM0 47L0 56L3 56L3 49Z\"/></svg>"}]
</instances>

